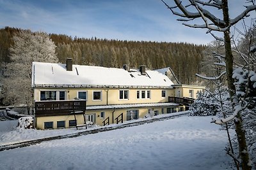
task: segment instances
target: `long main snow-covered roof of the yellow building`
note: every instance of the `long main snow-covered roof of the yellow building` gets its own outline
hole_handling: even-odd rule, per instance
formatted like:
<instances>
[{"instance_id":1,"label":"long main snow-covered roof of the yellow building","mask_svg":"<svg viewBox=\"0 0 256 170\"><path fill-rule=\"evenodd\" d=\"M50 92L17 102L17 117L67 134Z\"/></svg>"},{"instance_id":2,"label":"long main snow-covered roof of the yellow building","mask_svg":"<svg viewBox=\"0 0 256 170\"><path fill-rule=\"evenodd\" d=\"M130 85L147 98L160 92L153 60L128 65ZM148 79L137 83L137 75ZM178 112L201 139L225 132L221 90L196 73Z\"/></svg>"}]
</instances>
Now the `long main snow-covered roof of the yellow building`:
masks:
<instances>
[{"instance_id":1,"label":"long main snow-covered roof of the yellow building","mask_svg":"<svg viewBox=\"0 0 256 170\"><path fill-rule=\"evenodd\" d=\"M109 68L66 64L33 62L32 87L148 87L170 88L173 82L158 71L147 70L141 74L136 69Z\"/></svg>"}]
</instances>

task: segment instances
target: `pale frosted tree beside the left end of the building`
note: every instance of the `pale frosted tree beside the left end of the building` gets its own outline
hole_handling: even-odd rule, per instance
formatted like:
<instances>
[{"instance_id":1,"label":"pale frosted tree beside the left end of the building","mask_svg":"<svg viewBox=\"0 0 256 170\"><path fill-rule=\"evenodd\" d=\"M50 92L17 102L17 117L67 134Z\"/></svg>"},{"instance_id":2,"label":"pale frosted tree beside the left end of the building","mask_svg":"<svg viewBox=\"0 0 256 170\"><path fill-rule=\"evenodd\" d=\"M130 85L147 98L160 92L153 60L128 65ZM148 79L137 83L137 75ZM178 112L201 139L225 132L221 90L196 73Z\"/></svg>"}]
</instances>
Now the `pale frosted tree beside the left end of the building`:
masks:
<instances>
[{"instance_id":1,"label":"pale frosted tree beside the left end of the building","mask_svg":"<svg viewBox=\"0 0 256 170\"><path fill-rule=\"evenodd\" d=\"M11 62L6 65L1 95L5 104L33 106L32 62L57 62L56 46L44 32L20 31L13 36Z\"/></svg>"}]
</instances>

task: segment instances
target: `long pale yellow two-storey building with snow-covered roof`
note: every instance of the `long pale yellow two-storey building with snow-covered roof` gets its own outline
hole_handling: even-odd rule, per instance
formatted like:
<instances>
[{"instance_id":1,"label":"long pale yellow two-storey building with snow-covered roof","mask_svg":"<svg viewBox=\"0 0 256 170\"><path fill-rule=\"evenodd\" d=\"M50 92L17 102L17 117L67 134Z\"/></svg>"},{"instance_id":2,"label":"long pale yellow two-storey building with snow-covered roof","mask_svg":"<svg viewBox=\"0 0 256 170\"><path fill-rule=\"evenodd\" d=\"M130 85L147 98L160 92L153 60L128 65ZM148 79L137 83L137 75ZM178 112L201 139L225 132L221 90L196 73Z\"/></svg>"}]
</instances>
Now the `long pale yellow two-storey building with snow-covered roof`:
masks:
<instances>
[{"instance_id":1,"label":"long pale yellow two-storey building with snow-covered roof","mask_svg":"<svg viewBox=\"0 0 256 170\"><path fill-rule=\"evenodd\" d=\"M179 81L178 81L179 82ZM161 71L33 62L37 129L97 125L185 110L170 97L196 98L204 87L174 85ZM85 121L86 120L86 121Z\"/></svg>"}]
</instances>

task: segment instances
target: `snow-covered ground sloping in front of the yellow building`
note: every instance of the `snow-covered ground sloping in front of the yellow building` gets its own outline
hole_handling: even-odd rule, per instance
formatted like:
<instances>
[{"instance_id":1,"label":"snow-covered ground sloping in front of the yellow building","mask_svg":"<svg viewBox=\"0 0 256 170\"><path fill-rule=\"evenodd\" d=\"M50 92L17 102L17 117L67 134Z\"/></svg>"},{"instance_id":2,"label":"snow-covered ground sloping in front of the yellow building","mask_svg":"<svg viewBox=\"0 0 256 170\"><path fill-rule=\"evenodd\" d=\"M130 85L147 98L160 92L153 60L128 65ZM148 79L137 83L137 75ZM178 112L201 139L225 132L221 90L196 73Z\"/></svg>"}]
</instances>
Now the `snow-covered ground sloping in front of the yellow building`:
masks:
<instances>
[{"instance_id":1,"label":"snow-covered ground sloping in front of the yellow building","mask_svg":"<svg viewBox=\"0 0 256 170\"><path fill-rule=\"evenodd\" d=\"M211 117L179 117L4 150L0 169L230 169L226 132L209 122ZM45 132L62 131L74 129Z\"/></svg>"}]
</instances>

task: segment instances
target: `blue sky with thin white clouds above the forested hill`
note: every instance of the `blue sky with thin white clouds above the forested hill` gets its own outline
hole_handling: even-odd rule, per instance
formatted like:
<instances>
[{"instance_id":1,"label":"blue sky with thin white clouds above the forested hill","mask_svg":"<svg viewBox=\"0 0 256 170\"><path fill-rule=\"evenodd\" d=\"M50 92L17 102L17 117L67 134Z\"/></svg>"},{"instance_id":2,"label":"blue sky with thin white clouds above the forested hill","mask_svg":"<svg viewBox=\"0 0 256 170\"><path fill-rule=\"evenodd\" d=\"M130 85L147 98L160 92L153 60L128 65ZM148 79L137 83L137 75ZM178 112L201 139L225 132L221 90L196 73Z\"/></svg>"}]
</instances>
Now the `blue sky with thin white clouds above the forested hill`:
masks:
<instances>
[{"instance_id":1,"label":"blue sky with thin white clouds above the forested hill","mask_svg":"<svg viewBox=\"0 0 256 170\"><path fill-rule=\"evenodd\" d=\"M166 0L172 5L172 0ZM239 3L230 4L236 13ZM207 44L205 29L178 22L160 0L0 0L0 28L66 34L79 38Z\"/></svg>"}]
</instances>

